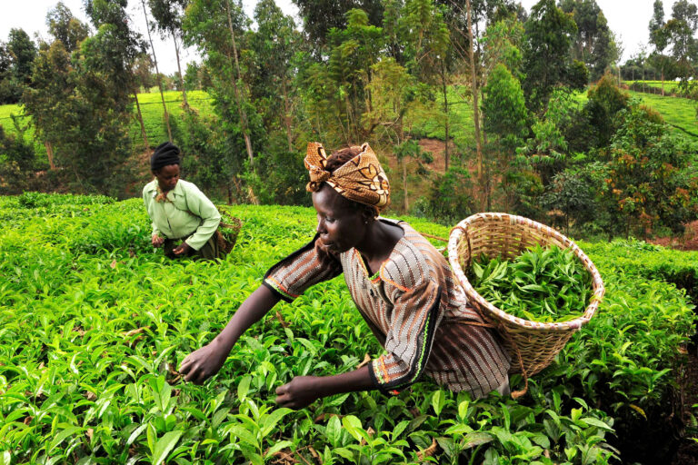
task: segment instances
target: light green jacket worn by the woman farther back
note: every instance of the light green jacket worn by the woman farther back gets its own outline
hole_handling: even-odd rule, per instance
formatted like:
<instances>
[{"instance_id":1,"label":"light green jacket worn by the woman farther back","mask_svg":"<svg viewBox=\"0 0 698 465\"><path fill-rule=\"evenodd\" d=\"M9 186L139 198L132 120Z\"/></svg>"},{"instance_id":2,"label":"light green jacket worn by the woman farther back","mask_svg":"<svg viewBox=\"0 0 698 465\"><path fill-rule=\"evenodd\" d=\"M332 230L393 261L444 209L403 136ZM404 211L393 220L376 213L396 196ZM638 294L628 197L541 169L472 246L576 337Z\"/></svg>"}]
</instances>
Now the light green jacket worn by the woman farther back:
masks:
<instances>
[{"instance_id":1,"label":"light green jacket worn by the woman farther back","mask_svg":"<svg viewBox=\"0 0 698 465\"><path fill-rule=\"evenodd\" d=\"M194 183L180 179L175 189L167 193L170 202L155 202L156 195L155 179L143 188L143 201L153 221L153 234L164 235L168 239L183 238L197 251L214 235L221 223L221 213Z\"/></svg>"}]
</instances>

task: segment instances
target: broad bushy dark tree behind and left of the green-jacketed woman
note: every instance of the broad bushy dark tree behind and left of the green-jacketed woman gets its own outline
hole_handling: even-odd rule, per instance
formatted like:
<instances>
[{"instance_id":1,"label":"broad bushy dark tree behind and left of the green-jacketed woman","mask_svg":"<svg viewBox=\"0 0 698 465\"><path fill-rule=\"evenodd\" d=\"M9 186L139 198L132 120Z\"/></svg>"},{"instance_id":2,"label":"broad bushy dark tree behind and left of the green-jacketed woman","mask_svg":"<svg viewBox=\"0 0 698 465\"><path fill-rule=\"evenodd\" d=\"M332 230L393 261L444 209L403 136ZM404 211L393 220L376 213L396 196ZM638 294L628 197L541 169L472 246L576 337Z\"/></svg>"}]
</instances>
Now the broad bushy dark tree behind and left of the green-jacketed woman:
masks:
<instances>
[{"instance_id":1,"label":"broad bushy dark tree behind and left of the green-jacketed woman","mask_svg":"<svg viewBox=\"0 0 698 465\"><path fill-rule=\"evenodd\" d=\"M115 53L109 26L82 42L71 57L61 41L45 45L35 60L35 86L24 95L36 133L55 148L55 164L85 193L123 193L124 162L131 153L130 112L105 64Z\"/></svg>"}]
</instances>

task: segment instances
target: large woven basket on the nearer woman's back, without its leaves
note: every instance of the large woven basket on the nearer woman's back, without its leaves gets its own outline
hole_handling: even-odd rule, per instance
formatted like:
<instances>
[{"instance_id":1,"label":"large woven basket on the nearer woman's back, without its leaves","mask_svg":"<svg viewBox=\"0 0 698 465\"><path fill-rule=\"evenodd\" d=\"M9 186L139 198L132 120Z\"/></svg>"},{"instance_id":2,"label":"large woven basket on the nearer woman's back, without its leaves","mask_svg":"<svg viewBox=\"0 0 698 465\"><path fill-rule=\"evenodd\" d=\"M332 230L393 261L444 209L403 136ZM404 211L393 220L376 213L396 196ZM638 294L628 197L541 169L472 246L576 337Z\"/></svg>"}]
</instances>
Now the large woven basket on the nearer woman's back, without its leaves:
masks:
<instances>
[{"instance_id":1,"label":"large woven basket on the nearer woman's back, without its leaves","mask_svg":"<svg viewBox=\"0 0 698 465\"><path fill-rule=\"evenodd\" d=\"M512 260L535 244L571 249L592 274L593 295L579 318L570 322L550 323L517 318L485 301L465 277L464 271L470 267L472 258L481 253L489 258L501 256L504 260ZM458 281L463 285L470 305L480 312L485 322L499 331L504 346L512 354L514 360L510 372L522 373L526 386L527 377L548 366L574 331L578 331L592 319L603 298L601 275L582 249L553 228L522 216L507 213L477 213L469 216L458 223L449 235L448 260Z\"/></svg>"}]
</instances>

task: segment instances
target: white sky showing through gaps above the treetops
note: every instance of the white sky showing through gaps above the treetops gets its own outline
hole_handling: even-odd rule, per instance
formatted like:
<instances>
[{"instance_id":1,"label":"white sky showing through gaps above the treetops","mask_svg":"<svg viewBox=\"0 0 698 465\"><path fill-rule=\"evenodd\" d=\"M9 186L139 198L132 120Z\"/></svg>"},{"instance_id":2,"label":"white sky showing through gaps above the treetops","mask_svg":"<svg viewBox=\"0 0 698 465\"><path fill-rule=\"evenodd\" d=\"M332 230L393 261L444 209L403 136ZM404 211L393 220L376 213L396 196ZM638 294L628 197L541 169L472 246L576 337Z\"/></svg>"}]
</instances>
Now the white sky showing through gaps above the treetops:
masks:
<instances>
[{"instance_id":1,"label":"white sky showing through gaps above the treetops","mask_svg":"<svg viewBox=\"0 0 698 465\"><path fill-rule=\"evenodd\" d=\"M537 0L519 0L527 11L537 3ZM671 17L672 5L675 0L664 0L664 18ZM25 32L34 37L35 34L48 39L48 28L46 27L46 14L55 7L58 0L0 0L0 40L6 41L12 28L22 28ZM63 0L63 3L70 8L73 15L88 23L83 12L83 0ZM147 3L147 2L146 2ZM620 38L623 46L623 56L621 63L640 51L642 45L648 43L647 25L652 16L653 0L596 0L596 3L603 10L603 15L608 20L608 25ZM296 25L300 27L302 21L298 16L298 8L291 3L291 0L276 0L276 4L286 15L294 17ZM256 0L243 0L245 13L252 17ZM134 20L135 28L145 39L145 18L141 0L128 0L127 12ZM150 14L148 14L150 16ZM152 21L152 18L150 18ZM175 58L175 45L172 39L161 39L158 34L153 35L157 64L161 73L173 74L177 70ZM648 48L649 51L649 48ZM180 54L182 67L191 61L200 61L194 48L184 49Z\"/></svg>"}]
</instances>

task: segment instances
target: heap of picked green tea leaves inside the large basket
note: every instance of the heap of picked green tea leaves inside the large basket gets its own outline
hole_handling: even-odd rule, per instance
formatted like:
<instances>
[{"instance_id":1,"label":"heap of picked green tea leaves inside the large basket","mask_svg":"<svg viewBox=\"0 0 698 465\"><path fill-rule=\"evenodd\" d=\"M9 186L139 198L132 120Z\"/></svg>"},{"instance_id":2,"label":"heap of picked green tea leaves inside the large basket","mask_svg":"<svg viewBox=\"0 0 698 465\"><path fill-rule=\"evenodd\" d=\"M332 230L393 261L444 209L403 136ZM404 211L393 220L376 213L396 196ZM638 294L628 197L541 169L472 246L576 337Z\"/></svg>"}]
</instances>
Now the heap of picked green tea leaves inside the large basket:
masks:
<instances>
[{"instance_id":1,"label":"heap of picked green tea leaves inside the large basket","mask_svg":"<svg viewBox=\"0 0 698 465\"><path fill-rule=\"evenodd\" d=\"M581 316L592 278L573 252L536 245L513 261L482 255L468 273L475 291L495 307L533 322L566 322Z\"/></svg>"}]
</instances>

